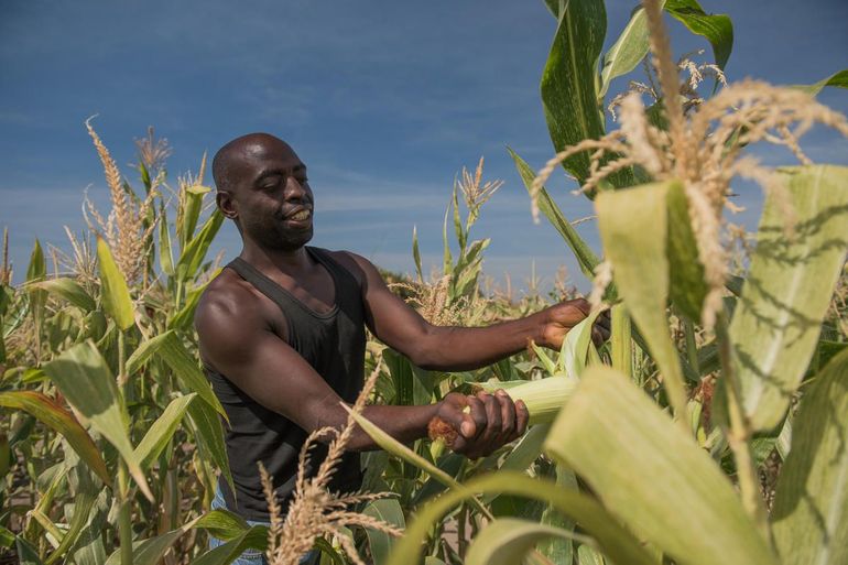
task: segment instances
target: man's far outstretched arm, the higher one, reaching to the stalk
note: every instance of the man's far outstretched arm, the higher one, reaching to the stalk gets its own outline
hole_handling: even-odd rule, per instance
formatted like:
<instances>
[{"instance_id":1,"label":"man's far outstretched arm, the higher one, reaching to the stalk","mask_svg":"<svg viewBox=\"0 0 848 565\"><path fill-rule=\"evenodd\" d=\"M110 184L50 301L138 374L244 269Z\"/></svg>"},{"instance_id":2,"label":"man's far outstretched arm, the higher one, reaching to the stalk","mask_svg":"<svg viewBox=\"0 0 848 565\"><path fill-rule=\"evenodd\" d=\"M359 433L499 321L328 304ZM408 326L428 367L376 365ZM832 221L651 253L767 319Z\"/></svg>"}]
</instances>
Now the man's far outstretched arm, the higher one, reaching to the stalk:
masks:
<instances>
[{"instance_id":1,"label":"man's far outstretched arm, the higher one, reaching to the stalk","mask_svg":"<svg viewBox=\"0 0 848 565\"><path fill-rule=\"evenodd\" d=\"M568 330L589 314L585 300L568 301L531 316L487 327L434 326L395 296L367 259L344 253L346 265L363 284L367 322L383 343L425 369L475 369L517 354L529 340L558 349ZM596 341L609 336L609 320L599 318Z\"/></svg>"}]
</instances>

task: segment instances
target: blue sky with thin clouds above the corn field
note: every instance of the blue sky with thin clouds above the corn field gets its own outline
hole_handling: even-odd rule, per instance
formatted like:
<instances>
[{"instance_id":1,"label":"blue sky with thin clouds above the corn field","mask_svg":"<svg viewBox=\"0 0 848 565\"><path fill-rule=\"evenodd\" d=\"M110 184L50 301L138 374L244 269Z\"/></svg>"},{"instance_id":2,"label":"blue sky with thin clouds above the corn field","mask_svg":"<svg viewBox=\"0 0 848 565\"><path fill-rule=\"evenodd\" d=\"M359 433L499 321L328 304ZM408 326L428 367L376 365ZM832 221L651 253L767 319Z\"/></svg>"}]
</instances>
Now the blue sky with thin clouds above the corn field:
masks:
<instances>
[{"instance_id":1,"label":"blue sky with thin clouds above the corn field","mask_svg":"<svg viewBox=\"0 0 848 565\"><path fill-rule=\"evenodd\" d=\"M441 224L455 175L486 157L505 184L475 237L491 237L486 271L519 286L535 260L550 282L565 264L585 287L550 226L533 225L526 193L504 146L534 167L552 153L539 98L555 21L542 0L377 2L46 2L0 0L0 227L8 226L15 281L35 237L66 246L63 225L83 229L83 191L104 203L106 184L84 120L122 172L148 126L168 139L171 181L196 171L204 151L268 131L309 166L315 245L350 249L411 271L413 225L425 263L441 254ZM607 45L634 2L607 2ZM704 0L729 13L736 41L728 77L813 83L848 67L844 0ZM670 21L676 52L707 47ZM626 80L612 85L616 93ZM822 101L848 112L848 91ZM848 163L848 142L814 131L814 160ZM762 154L790 163L783 153ZM207 182L211 182L207 178ZM589 203L552 184L569 218ZM746 195L755 225L757 195ZM580 227L596 249L592 222ZM216 241L238 253L226 225Z\"/></svg>"}]
</instances>

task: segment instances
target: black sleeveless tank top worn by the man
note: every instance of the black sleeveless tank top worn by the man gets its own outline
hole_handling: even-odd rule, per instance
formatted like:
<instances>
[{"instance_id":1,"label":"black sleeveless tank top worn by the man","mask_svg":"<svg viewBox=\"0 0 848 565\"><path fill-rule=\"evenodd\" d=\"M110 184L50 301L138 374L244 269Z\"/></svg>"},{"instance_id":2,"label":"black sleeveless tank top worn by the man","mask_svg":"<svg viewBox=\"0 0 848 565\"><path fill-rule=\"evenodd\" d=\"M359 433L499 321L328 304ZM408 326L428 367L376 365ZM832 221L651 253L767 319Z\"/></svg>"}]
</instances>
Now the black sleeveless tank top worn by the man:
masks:
<instances>
[{"instance_id":1,"label":"black sleeveless tank top worn by the man","mask_svg":"<svg viewBox=\"0 0 848 565\"><path fill-rule=\"evenodd\" d=\"M309 256L329 272L336 287L333 309L320 314L308 308L279 284L241 258L228 268L274 301L287 322L287 344L320 374L346 402L356 401L365 372L365 313L358 281L326 250L307 247ZM289 507L297 474L297 457L306 432L286 417L265 409L224 374L205 367L206 374L230 420L225 441L236 492L221 476L220 489L227 508L248 520L268 521L257 461L273 479L283 511ZM280 368L285 371L285 367ZM314 476L327 448L312 450L308 476ZM330 491L359 489L362 475L358 453L345 453L330 481Z\"/></svg>"}]
</instances>

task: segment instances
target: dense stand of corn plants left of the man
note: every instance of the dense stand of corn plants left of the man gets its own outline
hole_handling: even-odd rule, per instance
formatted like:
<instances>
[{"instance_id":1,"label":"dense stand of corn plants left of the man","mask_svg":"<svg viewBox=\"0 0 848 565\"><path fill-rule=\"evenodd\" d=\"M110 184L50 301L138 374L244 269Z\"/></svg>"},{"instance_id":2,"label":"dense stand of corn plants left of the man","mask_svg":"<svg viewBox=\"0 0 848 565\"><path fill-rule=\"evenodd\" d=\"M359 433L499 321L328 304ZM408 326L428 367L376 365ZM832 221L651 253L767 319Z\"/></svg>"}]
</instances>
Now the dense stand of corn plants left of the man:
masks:
<instances>
[{"instance_id":1,"label":"dense stand of corn plants left of the man","mask_svg":"<svg viewBox=\"0 0 848 565\"><path fill-rule=\"evenodd\" d=\"M26 564L182 563L208 530L230 542L205 563L228 563L265 533L208 512L217 470L232 479L192 317L222 217L200 221L203 164L172 191L151 137L137 196L87 127L112 202L106 218L87 203L96 242L72 235L69 272L54 248L48 275L36 241L19 286L3 262L0 546Z\"/></svg>"}]
</instances>

